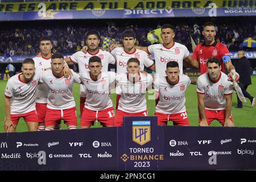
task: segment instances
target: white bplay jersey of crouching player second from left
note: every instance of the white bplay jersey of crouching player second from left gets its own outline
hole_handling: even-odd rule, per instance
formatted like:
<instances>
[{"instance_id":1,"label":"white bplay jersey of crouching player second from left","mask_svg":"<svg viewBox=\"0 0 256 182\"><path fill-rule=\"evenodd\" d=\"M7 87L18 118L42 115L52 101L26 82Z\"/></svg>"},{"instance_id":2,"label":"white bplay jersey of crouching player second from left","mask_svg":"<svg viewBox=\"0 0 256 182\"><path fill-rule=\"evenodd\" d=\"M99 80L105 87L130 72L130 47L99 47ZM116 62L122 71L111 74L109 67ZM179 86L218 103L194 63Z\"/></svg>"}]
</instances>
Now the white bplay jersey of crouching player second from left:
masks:
<instances>
[{"instance_id":1,"label":"white bplay jersey of crouching player second from left","mask_svg":"<svg viewBox=\"0 0 256 182\"><path fill-rule=\"evenodd\" d=\"M71 70L72 71L72 70ZM47 107L49 109L69 109L75 107L73 97L73 83L80 84L81 80L77 73L72 71L73 76L70 79L61 75L56 77L51 69L43 72L40 82L44 82L48 88Z\"/></svg>"}]
</instances>

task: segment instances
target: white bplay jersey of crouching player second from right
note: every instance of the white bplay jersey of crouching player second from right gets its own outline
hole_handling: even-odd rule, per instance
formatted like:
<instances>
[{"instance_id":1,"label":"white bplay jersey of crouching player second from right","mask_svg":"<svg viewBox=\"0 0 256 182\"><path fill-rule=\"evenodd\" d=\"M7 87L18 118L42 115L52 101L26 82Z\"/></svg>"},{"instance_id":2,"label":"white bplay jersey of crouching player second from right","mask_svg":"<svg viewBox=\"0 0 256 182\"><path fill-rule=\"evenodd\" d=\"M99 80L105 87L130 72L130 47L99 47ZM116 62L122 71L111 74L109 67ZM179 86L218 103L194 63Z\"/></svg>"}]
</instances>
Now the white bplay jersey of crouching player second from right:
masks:
<instances>
[{"instance_id":1,"label":"white bplay jersey of crouching player second from right","mask_svg":"<svg viewBox=\"0 0 256 182\"><path fill-rule=\"evenodd\" d=\"M180 75L175 85L167 82L167 76L160 78L159 82L156 80L154 86L159 92L159 102L155 111L164 114L185 112L185 90L190 82L187 75Z\"/></svg>"}]
</instances>

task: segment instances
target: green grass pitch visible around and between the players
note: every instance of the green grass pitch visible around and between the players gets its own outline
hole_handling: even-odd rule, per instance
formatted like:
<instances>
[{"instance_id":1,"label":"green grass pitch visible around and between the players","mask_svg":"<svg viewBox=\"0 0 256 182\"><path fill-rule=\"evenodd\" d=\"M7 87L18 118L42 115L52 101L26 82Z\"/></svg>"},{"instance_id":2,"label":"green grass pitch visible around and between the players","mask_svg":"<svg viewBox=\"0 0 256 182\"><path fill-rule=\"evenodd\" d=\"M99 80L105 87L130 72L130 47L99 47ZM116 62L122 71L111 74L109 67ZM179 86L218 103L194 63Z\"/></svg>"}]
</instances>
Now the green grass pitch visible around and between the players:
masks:
<instances>
[{"instance_id":1,"label":"green grass pitch visible around and between the players","mask_svg":"<svg viewBox=\"0 0 256 182\"><path fill-rule=\"evenodd\" d=\"M251 96L256 96L256 76L251 76L252 85L249 86L247 91L251 94ZM0 103L2 107L0 108L0 133L4 132L4 121L5 121L5 109L3 106L3 99L5 94L5 86L7 81L0 81ZM77 105L77 115L80 115L79 110L79 85L75 84L73 88L73 96L75 97L76 105ZM147 94L147 109L148 115L154 115L155 111L155 100L150 100L148 98L152 98L152 94ZM187 107L188 111L188 119L191 126L198 126L198 113L197 113L197 96L196 96L196 86L189 85L186 91L186 102L185 106ZM112 101L114 102L115 106L115 94L111 94ZM237 97L236 94L233 94L233 107L232 107L232 114L234 123L236 126L239 127L256 127L256 106L251 108L250 101L246 99L247 103L243 104L242 109L236 109L234 106L237 105ZM172 125L172 122L168 122L168 125ZM80 128L80 118L77 119L77 126ZM213 121L210 126L221 126L220 123L217 121ZM93 127L101 127L100 123L94 123ZM62 123L61 129L67 129ZM26 123L23 119L20 119L19 124L16 128L16 131L27 131Z\"/></svg>"}]
</instances>

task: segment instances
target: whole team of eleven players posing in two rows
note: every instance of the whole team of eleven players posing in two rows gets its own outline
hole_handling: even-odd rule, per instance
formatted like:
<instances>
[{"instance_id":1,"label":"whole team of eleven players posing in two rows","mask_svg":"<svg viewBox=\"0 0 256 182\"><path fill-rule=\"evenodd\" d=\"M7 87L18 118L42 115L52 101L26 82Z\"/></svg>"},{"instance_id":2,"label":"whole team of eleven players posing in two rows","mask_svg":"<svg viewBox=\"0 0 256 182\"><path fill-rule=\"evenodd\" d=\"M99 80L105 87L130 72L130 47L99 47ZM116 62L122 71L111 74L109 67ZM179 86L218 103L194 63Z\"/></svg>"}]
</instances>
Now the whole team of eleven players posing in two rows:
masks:
<instances>
[{"instance_id":1,"label":"whole team of eleven players posing in two rows","mask_svg":"<svg viewBox=\"0 0 256 182\"><path fill-rule=\"evenodd\" d=\"M101 51L98 33L89 31L85 38L87 46L65 59L61 53L52 54L51 39L43 37L41 53L34 60L25 59L22 73L7 82L5 131L14 132L21 117L28 131L60 129L61 120L68 129L76 129L73 83L80 84L82 129L89 128L94 121L104 127L122 126L125 116L147 116L146 92L151 89L156 91L158 125L173 121L174 125L188 126L185 90L193 80L183 75L183 63L201 70L196 82L199 126L209 126L213 119L222 126L234 126L233 86L228 80L238 81L239 75L231 64L228 49L214 42L214 24L204 25L205 43L197 45L193 56L184 45L174 42L173 26L164 24L161 31L163 44L146 48L136 47L135 33L125 31L123 47L112 46L110 52ZM155 62L148 53L155 54ZM79 64L79 74L68 68L71 63ZM116 73L108 72L109 64L117 65ZM232 74L225 75L224 64ZM153 78L144 73L144 66L158 76ZM116 115L110 99L113 89L117 94Z\"/></svg>"}]
</instances>

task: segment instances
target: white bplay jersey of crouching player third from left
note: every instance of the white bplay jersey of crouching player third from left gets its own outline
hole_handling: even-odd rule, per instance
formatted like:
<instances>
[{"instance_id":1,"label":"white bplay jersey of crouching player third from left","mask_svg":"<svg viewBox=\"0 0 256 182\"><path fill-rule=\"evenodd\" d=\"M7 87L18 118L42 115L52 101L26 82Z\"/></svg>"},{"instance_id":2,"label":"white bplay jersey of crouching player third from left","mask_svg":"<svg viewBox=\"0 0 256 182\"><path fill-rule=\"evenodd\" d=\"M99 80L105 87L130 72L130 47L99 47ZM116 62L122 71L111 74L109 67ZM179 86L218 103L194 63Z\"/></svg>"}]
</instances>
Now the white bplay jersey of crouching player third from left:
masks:
<instances>
[{"instance_id":1,"label":"white bplay jersey of crouching player third from left","mask_svg":"<svg viewBox=\"0 0 256 182\"><path fill-rule=\"evenodd\" d=\"M84 107L86 109L100 111L113 107L109 94L115 84L114 72L102 72L97 81L92 79L90 72L83 72L80 77L85 86L86 101Z\"/></svg>"}]
</instances>

